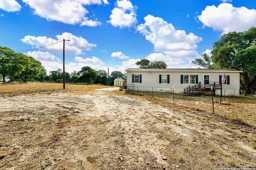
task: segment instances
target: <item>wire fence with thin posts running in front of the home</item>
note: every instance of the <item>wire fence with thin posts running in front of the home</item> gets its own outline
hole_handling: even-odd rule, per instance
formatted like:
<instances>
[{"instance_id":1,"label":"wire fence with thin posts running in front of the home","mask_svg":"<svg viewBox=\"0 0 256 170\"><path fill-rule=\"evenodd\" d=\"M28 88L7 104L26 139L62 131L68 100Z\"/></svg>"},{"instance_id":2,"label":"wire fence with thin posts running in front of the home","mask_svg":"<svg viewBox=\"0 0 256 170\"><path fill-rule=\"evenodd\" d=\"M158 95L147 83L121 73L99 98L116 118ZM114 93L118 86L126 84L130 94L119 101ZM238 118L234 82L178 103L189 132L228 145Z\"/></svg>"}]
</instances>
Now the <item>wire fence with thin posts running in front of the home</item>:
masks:
<instances>
[{"instance_id":1,"label":"wire fence with thin posts running in front of the home","mask_svg":"<svg viewBox=\"0 0 256 170\"><path fill-rule=\"evenodd\" d=\"M144 91L142 91L144 90ZM218 114L223 118L228 118L239 124L245 124L251 126L253 121L256 121L256 116L252 118L251 115L255 115L255 109L253 105L256 104L256 98L249 99L243 97L227 97L227 96L214 96L213 91L201 92L198 95L185 95L182 93L175 93L175 89L162 89L151 87L145 91L143 87L136 87L127 84L126 94L147 96L155 101L161 101L164 105L172 106L173 108L180 108L182 111L187 112L207 112ZM178 92L178 91L177 91ZM249 103L252 107L247 107L244 103Z\"/></svg>"}]
</instances>

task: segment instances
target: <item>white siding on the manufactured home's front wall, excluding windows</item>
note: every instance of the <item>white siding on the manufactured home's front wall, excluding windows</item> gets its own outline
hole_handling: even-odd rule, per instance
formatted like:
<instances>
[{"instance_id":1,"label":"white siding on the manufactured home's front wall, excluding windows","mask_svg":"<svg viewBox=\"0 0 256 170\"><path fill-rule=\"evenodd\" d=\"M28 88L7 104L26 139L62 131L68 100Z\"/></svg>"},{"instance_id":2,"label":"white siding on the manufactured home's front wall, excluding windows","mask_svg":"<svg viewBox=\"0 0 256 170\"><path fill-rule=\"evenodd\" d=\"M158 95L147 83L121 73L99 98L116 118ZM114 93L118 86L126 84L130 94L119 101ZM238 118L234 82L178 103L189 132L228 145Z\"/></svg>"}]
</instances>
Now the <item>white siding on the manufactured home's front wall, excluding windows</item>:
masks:
<instances>
[{"instance_id":1,"label":"white siding on the manufactured home's front wall, excluding windows","mask_svg":"<svg viewBox=\"0 0 256 170\"><path fill-rule=\"evenodd\" d=\"M132 83L132 74L141 74L142 83ZM170 83L159 83L159 74L169 74ZM151 91L152 86L154 90L164 91L170 90L174 87L175 93L182 93L184 88L193 86L195 84L183 83L181 84L180 75L198 75L198 82L203 83L203 75L209 74L211 82L219 82L219 75L223 75L221 72L140 72L140 71L127 71L127 84L134 84L135 89L142 91ZM225 72L229 75L229 84L223 84L222 89L226 89L226 95L239 96L239 72ZM216 94L220 94L220 90L216 90Z\"/></svg>"}]
</instances>

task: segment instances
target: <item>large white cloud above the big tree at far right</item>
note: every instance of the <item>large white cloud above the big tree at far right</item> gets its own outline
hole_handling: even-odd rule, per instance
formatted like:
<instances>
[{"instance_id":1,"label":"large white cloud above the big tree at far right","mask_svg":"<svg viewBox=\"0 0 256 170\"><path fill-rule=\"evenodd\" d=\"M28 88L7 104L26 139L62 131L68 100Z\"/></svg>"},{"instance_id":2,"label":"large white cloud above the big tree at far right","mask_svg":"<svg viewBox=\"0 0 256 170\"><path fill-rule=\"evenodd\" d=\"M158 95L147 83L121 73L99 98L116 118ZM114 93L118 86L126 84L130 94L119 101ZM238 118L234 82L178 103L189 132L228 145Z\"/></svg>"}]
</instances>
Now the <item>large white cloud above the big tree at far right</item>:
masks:
<instances>
[{"instance_id":1,"label":"large white cloud above the big tree at far right","mask_svg":"<svg viewBox=\"0 0 256 170\"><path fill-rule=\"evenodd\" d=\"M256 10L222 3L219 6L206 6L198 19L204 26L222 31L222 33L246 31L256 26Z\"/></svg>"}]
</instances>

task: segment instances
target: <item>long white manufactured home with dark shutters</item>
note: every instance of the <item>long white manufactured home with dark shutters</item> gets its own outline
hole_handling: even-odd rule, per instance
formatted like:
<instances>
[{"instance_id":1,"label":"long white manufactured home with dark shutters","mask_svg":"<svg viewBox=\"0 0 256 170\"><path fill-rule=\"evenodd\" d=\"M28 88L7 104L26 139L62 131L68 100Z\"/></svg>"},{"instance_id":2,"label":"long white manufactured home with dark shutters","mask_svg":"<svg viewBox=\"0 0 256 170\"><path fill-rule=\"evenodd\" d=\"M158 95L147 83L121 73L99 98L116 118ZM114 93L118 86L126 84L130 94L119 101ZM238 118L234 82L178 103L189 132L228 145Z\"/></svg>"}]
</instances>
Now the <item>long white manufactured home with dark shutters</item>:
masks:
<instances>
[{"instance_id":1,"label":"long white manufactured home with dark shutters","mask_svg":"<svg viewBox=\"0 0 256 170\"><path fill-rule=\"evenodd\" d=\"M222 69L126 69L127 90L172 91L182 94L188 88L213 89L216 95L239 96L240 72ZM221 83L225 75L225 82Z\"/></svg>"}]
</instances>

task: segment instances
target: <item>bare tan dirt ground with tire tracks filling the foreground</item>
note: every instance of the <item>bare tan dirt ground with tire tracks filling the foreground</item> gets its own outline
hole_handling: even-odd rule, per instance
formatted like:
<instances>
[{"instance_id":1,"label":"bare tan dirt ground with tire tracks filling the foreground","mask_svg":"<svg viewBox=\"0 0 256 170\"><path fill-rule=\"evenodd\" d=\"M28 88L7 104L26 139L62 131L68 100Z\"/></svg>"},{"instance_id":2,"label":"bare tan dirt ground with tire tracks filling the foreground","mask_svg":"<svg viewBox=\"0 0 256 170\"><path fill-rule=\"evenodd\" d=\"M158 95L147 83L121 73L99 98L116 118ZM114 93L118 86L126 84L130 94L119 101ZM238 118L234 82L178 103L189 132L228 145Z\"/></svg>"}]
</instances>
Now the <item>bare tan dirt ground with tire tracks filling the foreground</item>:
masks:
<instances>
[{"instance_id":1,"label":"bare tan dirt ground with tire tracks filling the foreground","mask_svg":"<svg viewBox=\"0 0 256 170\"><path fill-rule=\"evenodd\" d=\"M250 124L199 102L50 87L0 87L0 169L255 168L256 123L248 115ZM255 100L244 101L254 118Z\"/></svg>"}]
</instances>

